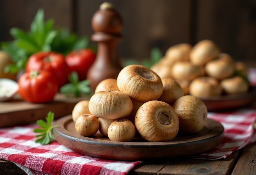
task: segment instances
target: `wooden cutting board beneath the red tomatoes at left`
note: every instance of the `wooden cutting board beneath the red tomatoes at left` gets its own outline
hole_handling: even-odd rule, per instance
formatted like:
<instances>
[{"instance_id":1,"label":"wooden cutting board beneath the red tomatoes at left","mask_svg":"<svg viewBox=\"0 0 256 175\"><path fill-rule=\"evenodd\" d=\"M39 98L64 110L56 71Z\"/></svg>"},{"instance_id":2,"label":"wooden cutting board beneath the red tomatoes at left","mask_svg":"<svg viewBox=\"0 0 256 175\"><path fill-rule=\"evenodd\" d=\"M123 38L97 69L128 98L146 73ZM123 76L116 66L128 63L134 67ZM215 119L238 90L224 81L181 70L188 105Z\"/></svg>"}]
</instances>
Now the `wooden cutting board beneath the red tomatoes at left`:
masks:
<instances>
[{"instance_id":1,"label":"wooden cutting board beneath the red tomatoes at left","mask_svg":"<svg viewBox=\"0 0 256 175\"><path fill-rule=\"evenodd\" d=\"M20 97L0 102L0 127L22 125L44 119L49 111L54 112L55 119L69 115L76 103L89 100L89 97L67 98L57 94L53 102L34 104L23 101Z\"/></svg>"}]
</instances>

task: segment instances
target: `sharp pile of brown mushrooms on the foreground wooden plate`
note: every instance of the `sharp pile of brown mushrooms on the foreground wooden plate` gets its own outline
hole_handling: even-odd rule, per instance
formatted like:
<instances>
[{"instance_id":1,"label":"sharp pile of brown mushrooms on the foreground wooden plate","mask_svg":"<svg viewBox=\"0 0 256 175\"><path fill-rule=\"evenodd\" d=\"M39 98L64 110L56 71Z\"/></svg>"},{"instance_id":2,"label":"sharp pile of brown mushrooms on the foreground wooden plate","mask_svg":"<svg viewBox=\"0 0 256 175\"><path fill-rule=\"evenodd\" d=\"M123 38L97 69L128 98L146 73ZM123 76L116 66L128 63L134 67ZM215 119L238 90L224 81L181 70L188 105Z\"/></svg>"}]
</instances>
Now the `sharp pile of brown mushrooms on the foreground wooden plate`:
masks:
<instances>
[{"instance_id":1,"label":"sharp pile of brown mushrooms on the foreground wooden plate","mask_svg":"<svg viewBox=\"0 0 256 175\"><path fill-rule=\"evenodd\" d=\"M149 142L170 141L178 131L199 132L207 119L204 103L183 94L175 80L161 79L141 65L129 65L117 79L100 82L89 101L77 103L72 118L83 136L99 130L111 141L128 142L138 132Z\"/></svg>"}]
</instances>

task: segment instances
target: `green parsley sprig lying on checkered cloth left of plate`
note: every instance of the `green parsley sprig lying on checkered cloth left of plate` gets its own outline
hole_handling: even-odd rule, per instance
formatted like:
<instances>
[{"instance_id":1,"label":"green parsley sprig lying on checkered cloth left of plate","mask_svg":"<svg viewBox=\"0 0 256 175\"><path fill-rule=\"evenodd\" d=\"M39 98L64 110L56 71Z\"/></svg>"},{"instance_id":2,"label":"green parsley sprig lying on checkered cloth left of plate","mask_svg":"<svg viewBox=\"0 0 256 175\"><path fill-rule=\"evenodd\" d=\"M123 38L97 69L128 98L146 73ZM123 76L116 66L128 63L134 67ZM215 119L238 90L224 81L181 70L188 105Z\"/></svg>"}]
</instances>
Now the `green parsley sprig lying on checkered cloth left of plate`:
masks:
<instances>
[{"instance_id":1,"label":"green parsley sprig lying on checkered cloth left of plate","mask_svg":"<svg viewBox=\"0 0 256 175\"><path fill-rule=\"evenodd\" d=\"M51 142L51 140L54 140L53 135L53 128L58 127L58 125L52 125L54 119L54 113L51 111L48 112L46 117L46 122L44 120L37 120L37 124L41 128L34 129L35 133L39 133L36 135L38 139L36 139L36 143L41 143L42 145L47 145Z\"/></svg>"}]
</instances>

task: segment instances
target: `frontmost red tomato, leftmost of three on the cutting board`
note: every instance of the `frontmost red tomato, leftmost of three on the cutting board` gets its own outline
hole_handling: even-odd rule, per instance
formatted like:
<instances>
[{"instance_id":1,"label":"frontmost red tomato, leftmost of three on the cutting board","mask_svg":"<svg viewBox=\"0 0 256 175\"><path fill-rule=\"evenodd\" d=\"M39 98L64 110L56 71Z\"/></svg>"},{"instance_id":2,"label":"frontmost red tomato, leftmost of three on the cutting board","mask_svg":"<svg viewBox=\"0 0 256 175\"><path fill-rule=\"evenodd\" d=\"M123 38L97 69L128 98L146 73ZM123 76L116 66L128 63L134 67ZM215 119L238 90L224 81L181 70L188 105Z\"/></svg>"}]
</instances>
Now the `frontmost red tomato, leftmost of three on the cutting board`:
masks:
<instances>
[{"instance_id":1,"label":"frontmost red tomato, leftmost of three on the cutting board","mask_svg":"<svg viewBox=\"0 0 256 175\"><path fill-rule=\"evenodd\" d=\"M18 84L20 96L31 103L52 101L58 92L58 84L55 78L44 70L23 74Z\"/></svg>"}]
</instances>

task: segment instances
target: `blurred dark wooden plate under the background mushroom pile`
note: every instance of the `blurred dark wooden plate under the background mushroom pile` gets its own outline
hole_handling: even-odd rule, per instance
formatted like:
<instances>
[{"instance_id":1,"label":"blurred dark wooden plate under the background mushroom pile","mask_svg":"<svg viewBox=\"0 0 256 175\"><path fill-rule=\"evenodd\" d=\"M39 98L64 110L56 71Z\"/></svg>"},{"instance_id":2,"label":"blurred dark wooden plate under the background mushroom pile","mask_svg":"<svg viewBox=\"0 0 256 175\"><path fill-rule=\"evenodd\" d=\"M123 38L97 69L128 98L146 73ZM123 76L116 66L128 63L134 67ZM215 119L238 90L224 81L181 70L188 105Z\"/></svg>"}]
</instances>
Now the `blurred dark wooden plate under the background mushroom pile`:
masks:
<instances>
[{"instance_id":1,"label":"blurred dark wooden plate under the background mushroom pile","mask_svg":"<svg viewBox=\"0 0 256 175\"><path fill-rule=\"evenodd\" d=\"M202 99L208 111L235 109L251 104L256 99L256 87L251 86L247 93L221 95Z\"/></svg>"}]
</instances>

